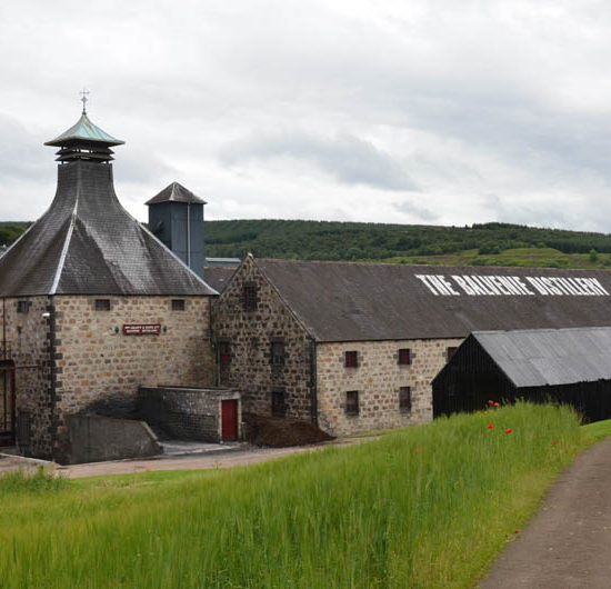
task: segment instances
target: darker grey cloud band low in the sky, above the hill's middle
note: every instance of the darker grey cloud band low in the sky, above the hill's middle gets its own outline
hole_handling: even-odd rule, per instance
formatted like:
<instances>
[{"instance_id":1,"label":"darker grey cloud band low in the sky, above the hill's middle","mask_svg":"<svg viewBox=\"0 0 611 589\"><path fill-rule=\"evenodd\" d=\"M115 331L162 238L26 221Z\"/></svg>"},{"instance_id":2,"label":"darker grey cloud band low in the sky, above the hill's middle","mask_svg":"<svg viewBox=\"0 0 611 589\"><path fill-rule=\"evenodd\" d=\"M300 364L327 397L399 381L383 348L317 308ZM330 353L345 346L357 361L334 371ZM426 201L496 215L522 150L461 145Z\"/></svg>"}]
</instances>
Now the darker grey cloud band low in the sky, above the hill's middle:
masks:
<instances>
[{"instance_id":1,"label":"darker grey cloud band low in the sky, above the hill's middle","mask_svg":"<svg viewBox=\"0 0 611 589\"><path fill-rule=\"evenodd\" d=\"M389 153L352 134L334 138L291 132L259 133L226 146L221 160L228 166L284 157L306 161L344 184L382 190L418 190L403 167Z\"/></svg>"}]
</instances>

